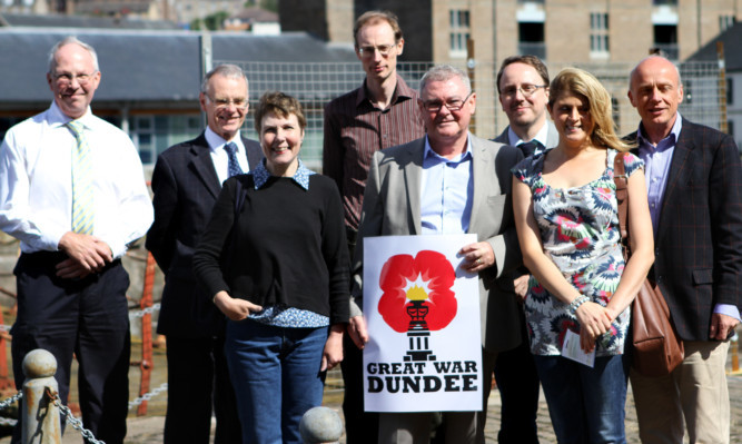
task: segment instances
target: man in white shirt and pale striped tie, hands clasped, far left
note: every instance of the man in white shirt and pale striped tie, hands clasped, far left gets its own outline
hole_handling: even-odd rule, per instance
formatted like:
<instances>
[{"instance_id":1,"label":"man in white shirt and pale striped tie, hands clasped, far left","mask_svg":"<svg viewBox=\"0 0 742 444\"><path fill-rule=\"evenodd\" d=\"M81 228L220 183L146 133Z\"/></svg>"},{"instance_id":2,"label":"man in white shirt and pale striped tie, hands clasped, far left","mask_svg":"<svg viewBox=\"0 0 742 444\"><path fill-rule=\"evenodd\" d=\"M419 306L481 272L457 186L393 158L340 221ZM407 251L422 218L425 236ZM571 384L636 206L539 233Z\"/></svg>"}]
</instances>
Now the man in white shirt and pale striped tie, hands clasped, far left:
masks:
<instances>
[{"instance_id":1,"label":"man in white shirt and pale striped tie, hands clasped, far left","mask_svg":"<svg viewBox=\"0 0 742 444\"><path fill-rule=\"evenodd\" d=\"M12 127L0 147L0 229L21 247L11 329L16 386L23 384L26 354L47 349L67 404L75 355L85 427L120 444L130 357L121 256L147 231L152 205L133 144L90 110L100 85L95 49L75 37L59 41L47 81L49 109Z\"/></svg>"}]
</instances>

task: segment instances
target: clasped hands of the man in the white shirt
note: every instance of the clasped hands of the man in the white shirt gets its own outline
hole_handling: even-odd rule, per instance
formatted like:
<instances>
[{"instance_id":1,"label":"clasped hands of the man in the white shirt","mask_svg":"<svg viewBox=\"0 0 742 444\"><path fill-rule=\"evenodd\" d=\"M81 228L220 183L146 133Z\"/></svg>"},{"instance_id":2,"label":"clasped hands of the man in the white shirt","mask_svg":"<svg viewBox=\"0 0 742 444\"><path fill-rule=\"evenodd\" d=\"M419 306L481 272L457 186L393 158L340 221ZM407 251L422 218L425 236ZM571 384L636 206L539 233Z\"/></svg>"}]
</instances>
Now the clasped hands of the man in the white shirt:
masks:
<instances>
[{"instance_id":1,"label":"clasped hands of the man in the white shirt","mask_svg":"<svg viewBox=\"0 0 742 444\"><path fill-rule=\"evenodd\" d=\"M58 247L69 256L68 259L57 264L57 276L63 279L86 277L113 260L108 244L90 235L67 231L59 239Z\"/></svg>"}]
</instances>

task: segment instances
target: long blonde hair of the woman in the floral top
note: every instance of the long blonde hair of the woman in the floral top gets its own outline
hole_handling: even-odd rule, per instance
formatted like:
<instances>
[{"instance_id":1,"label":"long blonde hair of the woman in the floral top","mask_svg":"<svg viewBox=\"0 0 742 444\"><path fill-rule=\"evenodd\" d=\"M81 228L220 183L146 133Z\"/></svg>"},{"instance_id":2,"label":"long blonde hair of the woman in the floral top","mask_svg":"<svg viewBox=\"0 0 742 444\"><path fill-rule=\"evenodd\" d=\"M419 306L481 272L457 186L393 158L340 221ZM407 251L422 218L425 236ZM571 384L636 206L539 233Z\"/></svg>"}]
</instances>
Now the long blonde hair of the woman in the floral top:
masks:
<instances>
[{"instance_id":1,"label":"long blonde hair of the woman in the floral top","mask_svg":"<svg viewBox=\"0 0 742 444\"><path fill-rule=\"evenodd\" d=\"M586 100L593 119L593 132L590 139L596 147L627 151L633 148L616 135L613 121L611 95L592 73L580 68L565 68L554 77L548 87L548 108L563 95L580 96Z\"/></svg>"}]
</instances>

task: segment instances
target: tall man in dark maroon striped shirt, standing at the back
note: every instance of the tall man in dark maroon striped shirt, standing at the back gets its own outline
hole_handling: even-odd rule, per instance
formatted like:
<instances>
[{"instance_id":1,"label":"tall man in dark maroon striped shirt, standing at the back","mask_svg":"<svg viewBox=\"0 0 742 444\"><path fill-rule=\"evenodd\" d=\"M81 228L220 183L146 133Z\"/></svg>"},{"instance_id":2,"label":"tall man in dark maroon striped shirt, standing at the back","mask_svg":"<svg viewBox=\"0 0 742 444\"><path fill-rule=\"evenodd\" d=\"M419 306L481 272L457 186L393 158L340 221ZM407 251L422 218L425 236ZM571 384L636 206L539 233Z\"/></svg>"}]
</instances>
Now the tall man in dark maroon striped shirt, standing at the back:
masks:
<instances>
[{"instance_id":1,"label":"tall man in dark maroon striped shirt, standing at the back","mask_svg":"<svg viewBox=\"0 0 742 444\"><path fill-rule=\"evenodd\" d=\"M354 38L366 79L325 108L323 146L323 174L335 180L343 197L350 257L372 156L424 135L417 92L397 73L397 57L405 45L397 18L388 11L365 12L356 20ZM348 444L376 444L378 415L364 413L362 354L347 335L344 353L343 413Z\"/></svg>"}]
</instances>

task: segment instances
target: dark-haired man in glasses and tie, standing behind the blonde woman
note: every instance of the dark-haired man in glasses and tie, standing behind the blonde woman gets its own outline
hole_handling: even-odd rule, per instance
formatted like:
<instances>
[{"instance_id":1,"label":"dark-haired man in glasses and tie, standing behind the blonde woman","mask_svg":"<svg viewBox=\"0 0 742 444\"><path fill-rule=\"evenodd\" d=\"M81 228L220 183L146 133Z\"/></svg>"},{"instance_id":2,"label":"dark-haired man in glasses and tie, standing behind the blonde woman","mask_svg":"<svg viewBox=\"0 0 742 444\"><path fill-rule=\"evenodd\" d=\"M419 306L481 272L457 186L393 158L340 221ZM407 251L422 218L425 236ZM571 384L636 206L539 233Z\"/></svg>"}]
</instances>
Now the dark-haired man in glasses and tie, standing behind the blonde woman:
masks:
<instances>
[{"instance_id":1,"label":"dark-haired man in glasses and tie, standing behind the blonde woman","mask_svg":"<svg viewBox=\"0 0 742 444\"><path fill-rule=\"evenodd\" d=\"M560 135L547 118L546 110L548 70L541 59L535 56L506 58L497 72L497 92L509 125L495 141L520 148L525 157L556 146ZM524 267L514 275L520 302L525 297L528 276ZM497 434L499 444L538 443L538 375L528 346L522 305L520 307L523 343L501 353L495 365L495 379L503 405Z\"/></svg>"}]
</instances>

